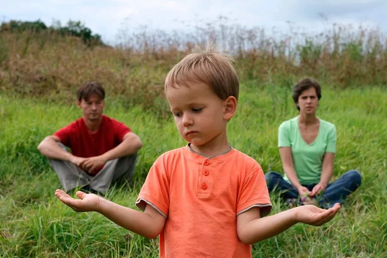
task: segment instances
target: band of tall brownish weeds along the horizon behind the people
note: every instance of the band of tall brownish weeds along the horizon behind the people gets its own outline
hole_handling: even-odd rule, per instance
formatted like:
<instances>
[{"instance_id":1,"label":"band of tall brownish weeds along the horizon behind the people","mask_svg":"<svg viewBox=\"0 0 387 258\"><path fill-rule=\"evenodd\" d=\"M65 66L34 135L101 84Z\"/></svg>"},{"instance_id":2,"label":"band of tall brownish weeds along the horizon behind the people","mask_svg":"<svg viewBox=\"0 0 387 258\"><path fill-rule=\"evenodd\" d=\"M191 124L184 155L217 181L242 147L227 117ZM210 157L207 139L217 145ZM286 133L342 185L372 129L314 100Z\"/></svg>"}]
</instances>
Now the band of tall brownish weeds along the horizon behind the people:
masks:
<instances>
[{"instance_id":1,"label":"band of tall brownish weeds along the horizon behind the people","mask_svg":"<svg viewBox=\"0 0 387 258\"><path fill-rule=\"evenodd\" d=\"M279 33L219 17L187 31L123 30L116 47L87 47L47 31L0 31L0 90L55 101L60 93L66 103L78 85L98 80L128 106L165 114L166 73L209 41L234 55L242 81L262 87L288 87L305 75L341 89L387 83L387 41L377 28L333 24L318 34L292 27Z\"/></svg>"}]
</instances>

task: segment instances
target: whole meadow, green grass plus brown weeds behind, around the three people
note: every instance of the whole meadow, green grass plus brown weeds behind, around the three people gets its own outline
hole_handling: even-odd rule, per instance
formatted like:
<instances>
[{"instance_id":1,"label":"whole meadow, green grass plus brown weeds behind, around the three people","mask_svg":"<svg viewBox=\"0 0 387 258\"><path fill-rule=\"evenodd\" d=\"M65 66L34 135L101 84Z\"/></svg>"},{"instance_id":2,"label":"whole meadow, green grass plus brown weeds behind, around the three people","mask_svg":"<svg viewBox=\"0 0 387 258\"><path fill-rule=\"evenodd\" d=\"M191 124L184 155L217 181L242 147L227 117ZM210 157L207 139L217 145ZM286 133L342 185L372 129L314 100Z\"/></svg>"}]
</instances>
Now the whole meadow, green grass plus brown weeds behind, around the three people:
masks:
<instances>
[{"instance_id":1,"label":"whole meadow, green grass plus brown weeds behind, around the three people","mask_svg":"<svg viewBox=\"0 0 387 258\"><path fill-rule=\"evenodd\" d=\"M358 169L361 187L322 227L296 225L253 245L254 257L387 256L387 50L372 28L332 25L321 35L270 35L225 18L193 32L122 32L116 47L77 38L0 31L0 257L157 257L157 240L128 232L99 214L77 214L55 199L59 180L36 146L80 116L77 87L98 80L106 114L143 140L135 180L107 198L135 208L153 161L183 146L163 98L166 73L195 44L215 40L235 56L242 82L228 125L233 147L264 171L282 171L277 127L297 115L291 89L301 76L323 85L318 116L336 125L333 178ZM75 103L74 103L75 104ZM273 213L286 209L271 196ZM219 236L221 237L221 236Z\"/></svg>"}]
</instances>

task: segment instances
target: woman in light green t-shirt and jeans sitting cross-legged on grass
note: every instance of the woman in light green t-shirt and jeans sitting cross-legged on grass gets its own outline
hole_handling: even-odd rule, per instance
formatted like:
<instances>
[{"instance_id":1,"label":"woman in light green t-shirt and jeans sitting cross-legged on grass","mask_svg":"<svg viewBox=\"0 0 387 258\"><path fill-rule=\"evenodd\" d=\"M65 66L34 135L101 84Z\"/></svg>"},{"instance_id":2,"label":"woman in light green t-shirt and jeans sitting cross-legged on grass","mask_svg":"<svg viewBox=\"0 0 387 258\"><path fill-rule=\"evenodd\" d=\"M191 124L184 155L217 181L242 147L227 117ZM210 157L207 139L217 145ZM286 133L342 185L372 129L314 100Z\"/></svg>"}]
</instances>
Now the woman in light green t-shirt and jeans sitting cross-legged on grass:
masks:
<instances>
[{"instance_id":1,"label":"woman in light green t-shirt and jeans sitting cross-legged on grass","mask_svg":"<svg viewBox=\"0 0 387 258\"><path fill-rule=\"evenodd\" d=\"M361 183L357 170L350 170L337 181L332 177L336 151L336 128L316 117L321 98L317 80L304 78L293 89L293 100L300 115L278 128L278 147L285 176L265 175L269 192L281 194L289 206L314 204L332 207L343 203Z\"/></svg>"}]
</instances>

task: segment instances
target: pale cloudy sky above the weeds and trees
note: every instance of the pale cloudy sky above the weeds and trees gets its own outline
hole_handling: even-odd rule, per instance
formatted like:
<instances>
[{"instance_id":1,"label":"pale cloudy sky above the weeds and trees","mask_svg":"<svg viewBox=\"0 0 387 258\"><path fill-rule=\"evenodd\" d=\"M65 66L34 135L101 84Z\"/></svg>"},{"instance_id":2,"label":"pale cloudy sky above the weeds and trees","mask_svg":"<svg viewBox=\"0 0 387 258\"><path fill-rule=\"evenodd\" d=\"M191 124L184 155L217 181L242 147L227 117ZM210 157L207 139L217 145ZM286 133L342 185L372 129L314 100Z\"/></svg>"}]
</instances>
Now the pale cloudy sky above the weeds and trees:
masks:
<instances>
[{"instance_id":1,"label":"pale cloudy sky above the weeds and trees","mask_svg":"<svg viewBox=\"0 0 387 258\"><path fill-rule=\"evenodd\" d=\"M114 44L124 28L188 30L225 16L229 23L287 30L319 30L338 23L378 27L387 34L387 0L0 0L0 19L36 21L50 26L81 21Z\"/></svg>"}]
</instances>

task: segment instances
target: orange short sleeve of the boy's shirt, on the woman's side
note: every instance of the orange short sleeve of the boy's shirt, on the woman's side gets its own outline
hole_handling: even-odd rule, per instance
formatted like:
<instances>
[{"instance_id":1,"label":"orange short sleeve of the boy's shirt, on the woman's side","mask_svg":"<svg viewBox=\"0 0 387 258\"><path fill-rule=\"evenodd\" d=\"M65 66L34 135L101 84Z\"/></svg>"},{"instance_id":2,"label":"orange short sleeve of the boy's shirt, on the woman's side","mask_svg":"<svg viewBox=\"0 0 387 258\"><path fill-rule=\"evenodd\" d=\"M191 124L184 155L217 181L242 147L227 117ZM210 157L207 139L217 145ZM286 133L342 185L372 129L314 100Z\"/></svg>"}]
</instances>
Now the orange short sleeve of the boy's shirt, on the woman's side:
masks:
<instances>
[{"instance_id":1,"label":"orange short sleeve of the boy's shirt, on the woman's side","mask_svg":"<svg viewBox=\"0 0 387 258\"><path fill-rule=\"evenodd\" d=\"M237 215L252 207L260 207L261 217L271 211L269 192L262 168L257 164L250 175L241 184L238 192Z\"/></svg>"}]
</instances>

